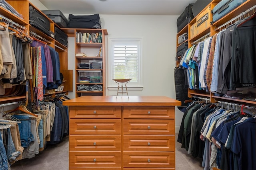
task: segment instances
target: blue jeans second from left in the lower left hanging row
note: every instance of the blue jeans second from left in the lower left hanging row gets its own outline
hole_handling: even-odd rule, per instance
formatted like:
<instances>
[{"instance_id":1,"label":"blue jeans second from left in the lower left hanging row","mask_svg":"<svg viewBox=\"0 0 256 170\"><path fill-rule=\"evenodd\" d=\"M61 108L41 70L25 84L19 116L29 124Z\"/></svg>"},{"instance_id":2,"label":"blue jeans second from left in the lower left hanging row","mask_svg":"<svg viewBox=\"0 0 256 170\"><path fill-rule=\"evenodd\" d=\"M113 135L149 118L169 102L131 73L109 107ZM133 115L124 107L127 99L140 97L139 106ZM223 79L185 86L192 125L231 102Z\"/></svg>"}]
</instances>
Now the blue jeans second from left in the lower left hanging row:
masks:
<instances>
[{"instance_id":1,"label":"blue jeans second from left in the lower left hanging row","mask_svg":"<svg viewBox=\"0 0 256 170\"><path fill-rule=\"evenodd\" d=\"M16 160L16 158L21 154L19 151L16 151L14 143L12 141L12 134L10 128L8 130L8 143L7 143L7 158L10 162Z\"/></svg>"}]
</instances>

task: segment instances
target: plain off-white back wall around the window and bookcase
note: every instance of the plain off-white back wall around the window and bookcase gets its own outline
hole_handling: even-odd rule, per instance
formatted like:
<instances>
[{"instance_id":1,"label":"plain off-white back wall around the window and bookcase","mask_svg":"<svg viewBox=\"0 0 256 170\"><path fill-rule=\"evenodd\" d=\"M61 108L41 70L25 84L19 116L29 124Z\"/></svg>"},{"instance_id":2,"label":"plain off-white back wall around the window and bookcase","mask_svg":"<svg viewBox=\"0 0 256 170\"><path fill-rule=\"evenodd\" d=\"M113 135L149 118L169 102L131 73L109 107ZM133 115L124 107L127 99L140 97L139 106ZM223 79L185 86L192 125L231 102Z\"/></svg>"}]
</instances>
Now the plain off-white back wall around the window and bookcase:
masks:
<instances>
[{"instance_id":1,"label":"plain off-white back wall around the window and bookcase","mask_svg":"<svg viewBox=\"0 0 256 170\"><path fill-rule=\"evenodd\" d=\"M33 1L32 3L34 4ZM45 8L42 4L38 4L36 7L40 10ZM68 14L64 15L68 18ZM168 96L175 99L174 67L176 66L176 21L178 16L100 14L100 18L102 28L108 31L106 49L110 37L139 37L143 39L142 78L144 88L142 92L129 92L129 95ZM108 70L107 61L108 51L106 51L106 70ZM74 37L68 38L68 69L75 70ZM106 74L106 86L108 86L107 80ZM75 88L74 82L74 91L69 92L69 98L75 97ZM116 92L106 90L106 95L116 95ZM182 116L183 113L176 108L176 132L179 130Z\"/></svg>"}]
</instances>

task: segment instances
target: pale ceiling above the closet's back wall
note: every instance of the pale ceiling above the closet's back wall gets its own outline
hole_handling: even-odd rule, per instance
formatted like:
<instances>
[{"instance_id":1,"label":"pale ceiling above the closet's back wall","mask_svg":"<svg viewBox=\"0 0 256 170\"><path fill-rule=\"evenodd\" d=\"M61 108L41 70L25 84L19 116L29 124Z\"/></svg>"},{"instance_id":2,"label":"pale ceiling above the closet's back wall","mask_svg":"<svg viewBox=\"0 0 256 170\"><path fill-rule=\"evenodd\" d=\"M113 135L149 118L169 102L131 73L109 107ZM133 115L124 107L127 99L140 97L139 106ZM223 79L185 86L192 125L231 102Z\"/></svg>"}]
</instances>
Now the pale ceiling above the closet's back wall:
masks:
<instances>
[{"instance_id":1,"label":"pale ceiling above the closet's back wall","mask_svg":"<svg viewBox=\"0 0 256 170\"><path fill-rule=\"evenodd\" d=\"M38 0L63 14L180 15L196 0Z\"/></svg>"}]
</instances>

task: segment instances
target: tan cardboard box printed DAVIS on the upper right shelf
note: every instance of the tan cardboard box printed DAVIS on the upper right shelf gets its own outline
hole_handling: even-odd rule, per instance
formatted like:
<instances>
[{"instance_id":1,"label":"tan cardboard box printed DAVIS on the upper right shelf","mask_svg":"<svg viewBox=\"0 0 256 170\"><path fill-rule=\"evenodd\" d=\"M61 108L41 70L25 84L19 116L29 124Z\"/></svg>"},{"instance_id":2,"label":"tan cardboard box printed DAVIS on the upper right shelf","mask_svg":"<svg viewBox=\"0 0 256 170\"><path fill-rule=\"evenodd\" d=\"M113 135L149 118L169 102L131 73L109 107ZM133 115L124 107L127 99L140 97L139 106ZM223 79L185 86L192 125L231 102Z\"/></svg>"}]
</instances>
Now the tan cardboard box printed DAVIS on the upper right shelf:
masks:
<instances>
[{"instance_id":1,"label":"tan cardboard box printed DAVIS on the upper right shelf","mask_svg":"<svg viewBox=\"0 0 256 170\"><path fill-rule=\"evenodd\" d=\"M196 35L202 33L210 26L210 6L196 17Z\"/></svg>"}]
</instances>

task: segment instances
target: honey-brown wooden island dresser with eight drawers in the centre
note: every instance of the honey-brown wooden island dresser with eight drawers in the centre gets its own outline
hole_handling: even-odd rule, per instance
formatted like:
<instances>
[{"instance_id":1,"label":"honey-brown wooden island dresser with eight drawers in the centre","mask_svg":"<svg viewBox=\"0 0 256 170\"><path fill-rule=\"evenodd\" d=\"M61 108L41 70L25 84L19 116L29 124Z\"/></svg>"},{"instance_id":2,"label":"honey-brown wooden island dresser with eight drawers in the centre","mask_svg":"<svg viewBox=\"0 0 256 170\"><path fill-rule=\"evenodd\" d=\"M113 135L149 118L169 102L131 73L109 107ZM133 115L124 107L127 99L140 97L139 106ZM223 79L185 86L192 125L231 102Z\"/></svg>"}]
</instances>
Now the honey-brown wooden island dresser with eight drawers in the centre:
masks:
<instances>
[{"instance_id":1,"label":"honey-brown wooden island dresser with eight drawers in the centre","mask_svg":"<svg viewBox=\"0 0 256 170\"><path fill-rule=\"evenodd\" d=\"M69 106L69 169L174 170L175 106L165 96L81 96Z\"/></svg>"}]
</instances>

